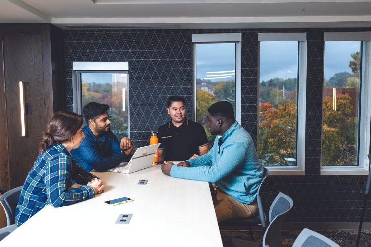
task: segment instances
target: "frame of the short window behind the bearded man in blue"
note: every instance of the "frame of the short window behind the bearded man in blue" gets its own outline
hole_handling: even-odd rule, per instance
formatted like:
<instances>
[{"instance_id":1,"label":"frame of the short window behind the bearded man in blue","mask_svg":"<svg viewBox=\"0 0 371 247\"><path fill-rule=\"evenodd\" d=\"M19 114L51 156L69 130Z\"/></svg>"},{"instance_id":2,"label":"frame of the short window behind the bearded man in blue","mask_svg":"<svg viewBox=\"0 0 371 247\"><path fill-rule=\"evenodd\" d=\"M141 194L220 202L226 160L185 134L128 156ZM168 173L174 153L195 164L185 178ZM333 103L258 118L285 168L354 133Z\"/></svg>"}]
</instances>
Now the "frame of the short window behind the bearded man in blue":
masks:
<instances>
[{"instance_id":1,"label":"frame of the short window behind the bearded man in blue","mask_svg":"<svg viewBox=\"0 0 371 247\"><path fill-rule=\"evenodd\" d=\"M130 95L128 62L72 62L72 95L73 111L82 115L81 73L125 73L128 77L128 137L130 138Z\"/></svg>"}]
</instances>

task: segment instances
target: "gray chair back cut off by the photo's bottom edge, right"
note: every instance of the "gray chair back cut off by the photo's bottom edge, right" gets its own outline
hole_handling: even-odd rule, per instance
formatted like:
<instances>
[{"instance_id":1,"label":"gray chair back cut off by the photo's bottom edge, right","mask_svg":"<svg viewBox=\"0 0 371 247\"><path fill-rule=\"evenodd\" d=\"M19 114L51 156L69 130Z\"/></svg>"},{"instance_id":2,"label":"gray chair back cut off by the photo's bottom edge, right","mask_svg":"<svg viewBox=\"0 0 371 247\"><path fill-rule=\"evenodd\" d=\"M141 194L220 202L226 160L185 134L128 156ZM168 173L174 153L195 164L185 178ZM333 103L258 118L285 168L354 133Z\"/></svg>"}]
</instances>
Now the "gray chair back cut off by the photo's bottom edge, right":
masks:
<instances>
[{"instance_id":1,"label":"gray chair back cut off by the photo's bottom edge, right","mask_svg":"<svg viewBox=\"0 0 371 247\"><path fill-rule=\"evenodd\" d=\"M304 228L296 238L292 247L340 247L322 234Z\"/></svg>"}]
</instances>

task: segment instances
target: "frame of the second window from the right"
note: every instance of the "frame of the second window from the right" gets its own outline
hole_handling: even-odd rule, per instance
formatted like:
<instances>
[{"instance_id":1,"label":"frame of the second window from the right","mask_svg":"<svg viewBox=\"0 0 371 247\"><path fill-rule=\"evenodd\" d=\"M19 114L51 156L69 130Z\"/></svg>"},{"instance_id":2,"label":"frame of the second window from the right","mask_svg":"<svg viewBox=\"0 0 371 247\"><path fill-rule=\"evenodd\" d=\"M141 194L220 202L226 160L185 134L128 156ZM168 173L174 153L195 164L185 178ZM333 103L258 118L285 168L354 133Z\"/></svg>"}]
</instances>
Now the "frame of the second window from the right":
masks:
<instances>
[{"instance_id":1,"label":"frame of the second window from the right","mask_svg":"<svg viewBox=\"0 0 371 247\"><path fill-rule=\"evenodd\" d=\"M260 42L261 41L298 41L298 95L297 95L297 136L296 166L265 166L270 175L305 175L305 126L306 126L306 91L307 91L307 33L258 33L258 99L260 83ZM259 100L258 100L259 102ZM259 105L258 105L259 111ZM259 113L258 113L259 114ZM258 136L259 143L259 117ZM259 147L259 145L257 145Z\"/></svg>"}]
</instances>

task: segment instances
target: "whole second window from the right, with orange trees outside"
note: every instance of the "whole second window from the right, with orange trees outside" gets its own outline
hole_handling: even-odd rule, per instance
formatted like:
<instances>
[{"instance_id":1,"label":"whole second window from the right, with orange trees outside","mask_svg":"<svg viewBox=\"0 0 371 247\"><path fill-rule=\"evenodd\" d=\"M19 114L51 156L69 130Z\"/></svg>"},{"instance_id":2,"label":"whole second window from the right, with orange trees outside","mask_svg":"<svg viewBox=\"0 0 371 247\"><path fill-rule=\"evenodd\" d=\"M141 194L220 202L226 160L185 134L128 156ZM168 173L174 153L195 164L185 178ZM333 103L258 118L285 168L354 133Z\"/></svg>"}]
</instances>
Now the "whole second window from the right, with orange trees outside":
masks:
<instances>
[{"instance_id":1,"label":"whole second window from the right, with orange trees outside","mask_svg":"<svg viewBox=\"0 0 371 247\"><path fill-rule=\"evenodd\" d=\"M260 33L258 155L272 171L304 174L305 82L306 34Z\"/></svg>"}]
</instances>

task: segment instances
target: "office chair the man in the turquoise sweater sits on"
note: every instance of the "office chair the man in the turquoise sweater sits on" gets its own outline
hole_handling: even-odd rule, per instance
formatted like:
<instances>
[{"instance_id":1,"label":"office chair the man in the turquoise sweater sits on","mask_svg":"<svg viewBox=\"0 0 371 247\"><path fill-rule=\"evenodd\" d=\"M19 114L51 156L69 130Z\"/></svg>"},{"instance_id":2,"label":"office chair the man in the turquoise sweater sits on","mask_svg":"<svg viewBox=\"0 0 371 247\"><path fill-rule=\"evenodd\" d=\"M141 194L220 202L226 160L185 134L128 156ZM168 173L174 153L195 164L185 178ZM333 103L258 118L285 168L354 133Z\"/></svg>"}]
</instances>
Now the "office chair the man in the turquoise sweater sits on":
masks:
<instances>
[{"instance_id":1,"label":"office chair the man in the turquoise sweater sits on","mask_svg":"<svg viewBox=\"0 0 371 247\"><path fill-rule=\"evenodd\" d=\"M267 223L266 223L266 218L267 217L264 214L264 207L263 207L263 203L262 203L262 197L260 196L260 188L261 188L264 180L269 175L269 170L266 167L263 167L263 169L264 169L263 179L260 181L259 188L258 188L258 193L257 193L257 196L256 196L256 201L258 203L258 211L259 211L258 215L255 215L255 216L250 217L250 218L236 218L236 219L229 219L229 220L223 221L223 222L219 223L219 227L221 229L226 229L227 227L231 227L231 226L232 227L249 226L250 237L251 237L251 240L254 241L254 237L253 237L253 234L252 234L252 226L261 225L262 228L263 228L263 231L265 230L265 228L267 228Z\"/></svg>"}]
</instances>

